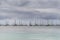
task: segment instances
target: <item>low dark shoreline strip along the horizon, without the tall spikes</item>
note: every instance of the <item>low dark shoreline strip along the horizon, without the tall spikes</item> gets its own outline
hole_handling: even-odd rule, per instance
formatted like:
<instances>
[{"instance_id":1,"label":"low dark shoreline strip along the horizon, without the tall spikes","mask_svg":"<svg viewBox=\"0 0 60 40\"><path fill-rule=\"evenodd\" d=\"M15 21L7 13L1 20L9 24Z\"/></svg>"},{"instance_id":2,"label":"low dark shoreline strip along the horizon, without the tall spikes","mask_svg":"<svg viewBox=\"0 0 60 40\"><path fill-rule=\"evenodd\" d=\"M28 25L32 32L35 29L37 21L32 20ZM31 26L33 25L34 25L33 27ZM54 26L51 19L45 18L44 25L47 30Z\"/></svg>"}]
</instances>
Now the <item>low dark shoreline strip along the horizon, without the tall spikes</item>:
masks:
<instances>
[{"instance_id":1,"label":"low dark shoreline strip along the horizon, without the tall spikes","mask_svg":"<svg viewBox=\"0 0 60 40\"><path fill-rule=\"evenodd\" d=\"M37 24L37 23L35 23L34 25L30 22L29 23L29 25L28 24L16 24L16 23L14 23L13 25L10 25L10 24L8 24L8 23L6 23L5 25L2 25L2 24L0 24L0 26L60 26L59 24L57 24L57 25L51 25L51 24L46 24L46 25L44 25L44 24Z\"/></svg>"}]
</instances>

